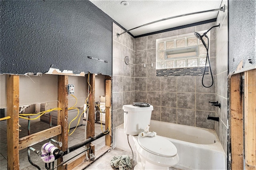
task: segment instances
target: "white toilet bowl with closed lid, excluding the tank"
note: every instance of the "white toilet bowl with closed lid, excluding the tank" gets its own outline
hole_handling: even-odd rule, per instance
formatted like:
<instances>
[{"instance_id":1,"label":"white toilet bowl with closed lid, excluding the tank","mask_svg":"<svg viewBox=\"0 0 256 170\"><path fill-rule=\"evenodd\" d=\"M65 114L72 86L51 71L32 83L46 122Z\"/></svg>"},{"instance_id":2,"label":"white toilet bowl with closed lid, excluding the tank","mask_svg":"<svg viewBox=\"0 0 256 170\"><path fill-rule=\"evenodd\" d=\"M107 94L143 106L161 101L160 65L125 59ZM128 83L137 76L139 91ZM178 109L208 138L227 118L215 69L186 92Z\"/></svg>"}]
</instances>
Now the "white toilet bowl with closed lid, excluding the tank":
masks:
<instances>
[{"instance_id":1,"label":"white toilet bowl with closed lid, excluding the tank","mask_svg":"<svg viewBox=\"0 0 256 170\"><path fill-rule=\"evenodd\" d=\"M177 149L162 136L132 137L135 142L137 165L134 170L168 170L179 162Z\"/></svg>"}]
</instances>

